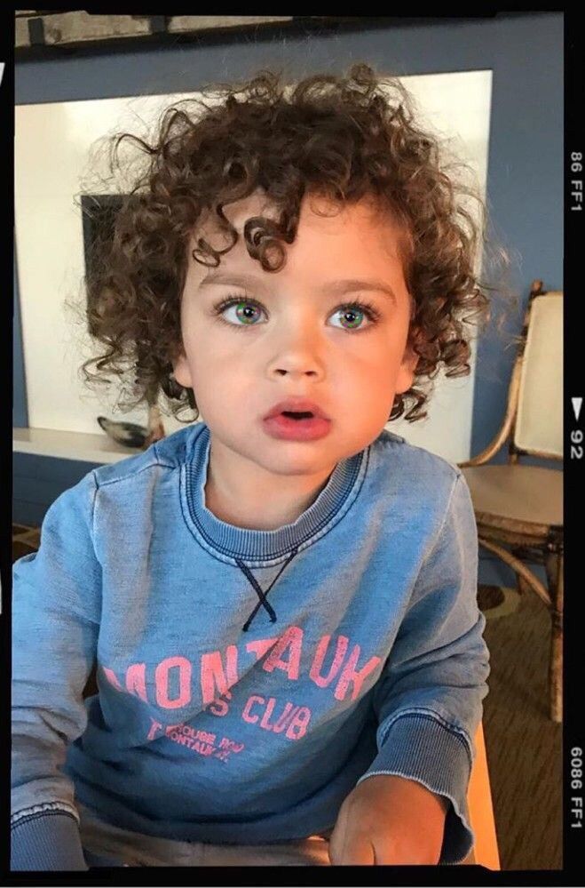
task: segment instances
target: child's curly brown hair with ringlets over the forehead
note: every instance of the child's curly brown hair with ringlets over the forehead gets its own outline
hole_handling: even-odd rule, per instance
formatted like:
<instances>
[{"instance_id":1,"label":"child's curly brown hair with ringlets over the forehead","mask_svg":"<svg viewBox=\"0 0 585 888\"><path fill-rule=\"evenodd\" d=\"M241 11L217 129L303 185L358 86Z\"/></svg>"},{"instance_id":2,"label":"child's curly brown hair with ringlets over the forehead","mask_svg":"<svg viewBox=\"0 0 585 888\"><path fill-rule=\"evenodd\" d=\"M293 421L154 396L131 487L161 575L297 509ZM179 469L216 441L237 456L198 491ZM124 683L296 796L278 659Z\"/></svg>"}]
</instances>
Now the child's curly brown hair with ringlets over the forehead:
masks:
<instances>
[{"instance_id":1,"label":"child's curly brown hair with ringlets over the forehead","mask_svg":"<svg viewBox=\"0 0 585 888\"><path fill-rule=\"evenodd\" d=\"M211 99L209 101L209 99ZM224 207L263 189L277 220L255 217L244 227L249 255L265 271L286 261L301 202L319 194L335 203L370 197L399 220L408 291L415 301L409 340L419 356L417 386L440 366L449 377L470 372L464 324L487 321L489 300L474 271L486 228L477 191L447 167L439 140L415 124L414 103L394 77L365 63L347 76L318 74L289 87L263 70L241 84L213 84L203 99L177 102L158 122L152 143L117 134L110 168L120 168L124 141L144 168L115 216L114 235L96 242L86 276L91 335L106 347L83 364L85 381L131 380L123 409L152 404L162 388L170 410L198 411L191 389L171 377L181 348L180 300L187 245L203 212L215 214L232 243L217 252L201 237L193 258L217 265L238 240ZM465 168L467 169L467 168ZM466 205L478 202L476 220ZM273 257L276 255L276 261ZM269 261L270 260L270 261ZM95 372L90 368L95 365ZM397 394L389 420L426 415L427 393Z\"/></svg>"}]
</instances>

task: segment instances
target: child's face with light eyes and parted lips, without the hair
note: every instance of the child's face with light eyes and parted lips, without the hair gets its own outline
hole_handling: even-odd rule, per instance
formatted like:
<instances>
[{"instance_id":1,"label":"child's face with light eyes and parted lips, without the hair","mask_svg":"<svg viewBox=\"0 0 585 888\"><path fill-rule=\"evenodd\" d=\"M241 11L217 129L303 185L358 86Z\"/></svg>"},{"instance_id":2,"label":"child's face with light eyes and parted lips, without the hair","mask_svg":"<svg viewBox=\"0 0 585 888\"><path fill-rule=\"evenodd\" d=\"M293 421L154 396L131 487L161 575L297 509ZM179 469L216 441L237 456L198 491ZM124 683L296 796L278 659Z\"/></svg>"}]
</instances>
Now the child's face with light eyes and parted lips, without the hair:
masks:
<instances>
[{"instance_id":1,"label":"child's face with light eyes and parted lips, without the hair","mask_svg":"<svg viewBox=\"0 0 585 888\"><path fill-rule=\"evenodd\" d=\"M397 235L364 202L325 217L305 199L295 242L284 246L285 266L266 272L250 258L242 236L245 221L260 212L274 214L259 194L225 207L241 239L217 268L191 257L194 237L181 307L184 353L174 373L194 388L212 442L243 458L242 466L320 476L376 439L394 395L413 382L416 356L407 348L412 303ZM227 243L209 217L197 236L214 247ZM344 292L343 281L377 284ZM225 308L222 323L214 307L232 296L255 302ZM340 308L355 300L371 303L379 319ZM298 441L268 434L266 413L289 396L320 406L330 420L325 436Z\"/></svg>"}]
</instances>

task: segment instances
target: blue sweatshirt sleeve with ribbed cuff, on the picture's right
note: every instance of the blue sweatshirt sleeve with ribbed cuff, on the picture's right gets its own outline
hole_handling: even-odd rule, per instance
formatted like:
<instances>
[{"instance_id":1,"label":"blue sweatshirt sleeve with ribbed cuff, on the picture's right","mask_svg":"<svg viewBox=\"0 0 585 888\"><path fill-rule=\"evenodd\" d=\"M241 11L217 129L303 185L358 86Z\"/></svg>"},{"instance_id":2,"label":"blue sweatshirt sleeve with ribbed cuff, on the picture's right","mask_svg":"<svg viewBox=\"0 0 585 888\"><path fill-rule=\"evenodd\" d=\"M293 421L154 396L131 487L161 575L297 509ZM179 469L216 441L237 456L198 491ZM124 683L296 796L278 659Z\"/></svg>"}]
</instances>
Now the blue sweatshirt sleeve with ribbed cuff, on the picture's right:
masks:
<instances>
[{"instance_id":1,"label":"blue sweatshirt sleeve with ribbed cuff, on the picture's right","mask_svg":"<svg viewBox=\"0 0 585 888\"><path fill-rule=\"evenodd\" d=\"M477 589L477 525L459 474L376 685L378 754L359 780L398 774L448 800L439 864L459 863L475 840L467 790L490 672Z\"/></svg>"}]
</instances>

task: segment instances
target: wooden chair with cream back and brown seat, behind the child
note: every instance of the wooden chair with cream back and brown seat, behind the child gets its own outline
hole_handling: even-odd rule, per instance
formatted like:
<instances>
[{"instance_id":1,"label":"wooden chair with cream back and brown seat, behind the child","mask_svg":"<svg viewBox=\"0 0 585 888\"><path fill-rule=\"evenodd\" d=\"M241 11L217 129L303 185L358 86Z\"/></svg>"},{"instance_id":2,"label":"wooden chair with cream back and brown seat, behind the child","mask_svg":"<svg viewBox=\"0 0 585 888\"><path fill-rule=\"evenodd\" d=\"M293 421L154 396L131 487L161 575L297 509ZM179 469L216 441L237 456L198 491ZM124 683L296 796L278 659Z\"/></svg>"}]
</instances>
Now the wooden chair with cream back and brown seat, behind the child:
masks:
<instances>
[{"instance_id":1,"label":"wooden chair with cream back and brown seat, behind the child","mask_svg":"<svg viewBox=\"0 0 585 888\"><path fill-rule=\"evenodd\" d=\"M508 462L486 465L507 439ZM563 471L521 465L519 457L526 454L563 459L563 293L544 292L542 281L532 284L502 428L485 450L459 467L470 487L479 544L510 565L520 594L532 589L549 609L549 716L560 722ZM544 564L546 586L526 561Z\"/></svg>"}]
</instances>

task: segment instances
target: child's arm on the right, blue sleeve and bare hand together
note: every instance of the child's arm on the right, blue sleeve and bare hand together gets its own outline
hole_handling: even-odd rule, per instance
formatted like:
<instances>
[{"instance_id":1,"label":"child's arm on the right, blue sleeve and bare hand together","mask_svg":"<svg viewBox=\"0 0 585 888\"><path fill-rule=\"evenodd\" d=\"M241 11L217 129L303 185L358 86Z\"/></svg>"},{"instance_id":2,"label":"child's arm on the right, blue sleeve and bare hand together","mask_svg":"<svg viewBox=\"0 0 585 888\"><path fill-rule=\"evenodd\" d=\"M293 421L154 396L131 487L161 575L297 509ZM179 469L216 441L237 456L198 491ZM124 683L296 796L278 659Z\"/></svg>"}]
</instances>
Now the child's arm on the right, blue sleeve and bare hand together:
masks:
<instances>
[{"instance_id":1,"label":"child's arm on the right, blue sleeve and bare hand together","mask_svg":"<svg viewBox=\"0 0 585 888\"><path fill-rule=\"evenodd\" d=\"M367 831L378 862L420 863L436 854L432 862L457 863L470 852L472 738L490 671L477 579L477 528L460 474L376 687L378 755L344 802L333 862L358 862L368 804L376 808L377 826Z\"/></svg>"}]
</instances>

